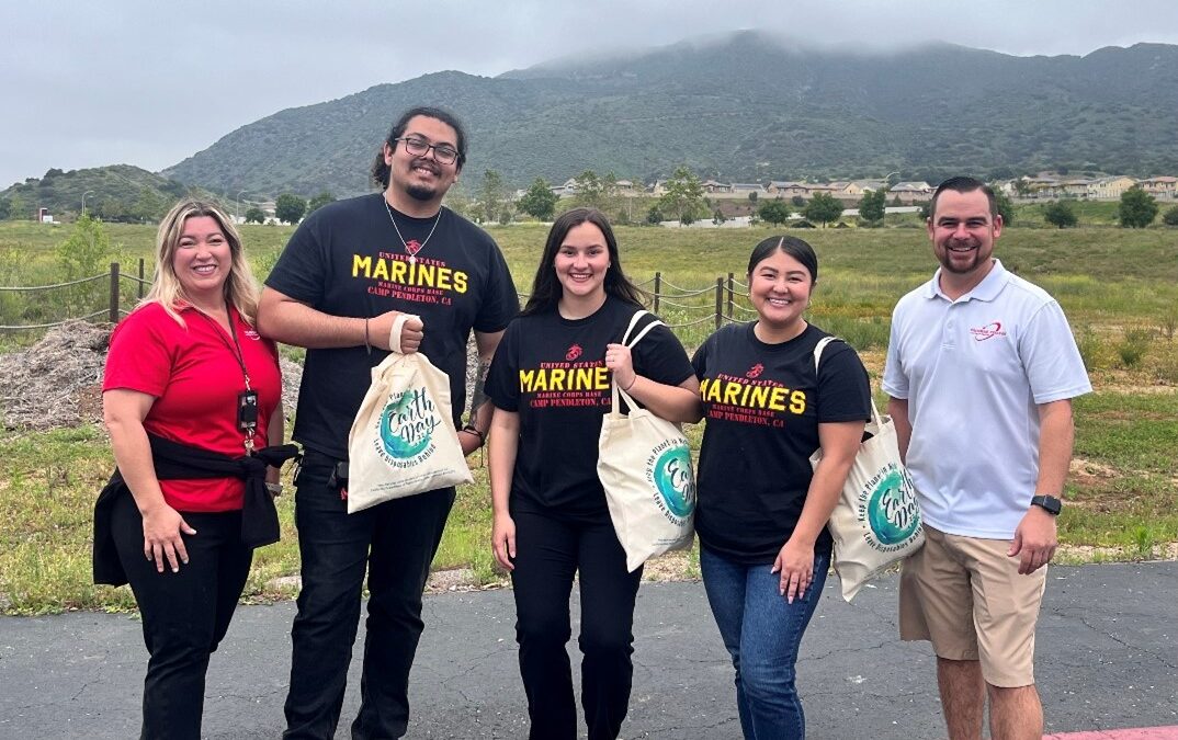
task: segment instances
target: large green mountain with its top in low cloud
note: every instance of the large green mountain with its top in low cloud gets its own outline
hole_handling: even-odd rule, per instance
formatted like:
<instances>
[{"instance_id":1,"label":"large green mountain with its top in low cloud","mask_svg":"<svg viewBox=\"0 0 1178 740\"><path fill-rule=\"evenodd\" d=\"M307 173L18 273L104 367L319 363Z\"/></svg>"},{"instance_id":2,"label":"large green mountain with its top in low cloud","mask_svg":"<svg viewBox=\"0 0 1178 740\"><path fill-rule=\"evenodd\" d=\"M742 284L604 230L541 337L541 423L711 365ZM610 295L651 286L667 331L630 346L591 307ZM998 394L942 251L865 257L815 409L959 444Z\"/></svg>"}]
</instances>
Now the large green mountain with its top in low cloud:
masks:
<instances>
[{"instance_id":1,"label":"large green mountain with its top in low cloud","mask_svg":"<svg viewBox=\"0 0 1178 740\"><path fill-rule=\"evenodd\" d=\"M1178 171L1178 46L885 53L740 32L496 78L439 72L378 85L243 126L164 174L218 192L364 192L392 119L418 104L466 124L468 183L488 169L516 186L584 170L649 180L681 164L735 181Z\"/></svg>"}]
</instances>

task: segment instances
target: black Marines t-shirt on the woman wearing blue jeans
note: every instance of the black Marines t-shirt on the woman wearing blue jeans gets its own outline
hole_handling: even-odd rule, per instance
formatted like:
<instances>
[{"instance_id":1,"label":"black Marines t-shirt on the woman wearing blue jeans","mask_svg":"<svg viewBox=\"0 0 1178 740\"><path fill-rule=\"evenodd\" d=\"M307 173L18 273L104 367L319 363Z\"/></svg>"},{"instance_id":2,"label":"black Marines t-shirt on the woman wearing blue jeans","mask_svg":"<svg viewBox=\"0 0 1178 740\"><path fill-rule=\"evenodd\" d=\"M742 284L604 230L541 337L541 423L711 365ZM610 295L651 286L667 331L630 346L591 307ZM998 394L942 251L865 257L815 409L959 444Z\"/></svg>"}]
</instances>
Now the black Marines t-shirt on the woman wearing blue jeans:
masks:
<instances>
[{"instance_id":1,"label":"black Marines t-shirt on the woman wearing blue jeans","mask_svg":"<svg viewBox=\"0 0 1178 740\"><path fill-rule=\"evenodd\" d=\"M740 563L772 563L806 503L820 422L871 417L871 388L859 355L808 325L789 342L766 344L754 324L732 324L695 352L704 417L696 476L700 542ZM825 529L816 546L826 546Z\"/></svg>"}]
</instances>

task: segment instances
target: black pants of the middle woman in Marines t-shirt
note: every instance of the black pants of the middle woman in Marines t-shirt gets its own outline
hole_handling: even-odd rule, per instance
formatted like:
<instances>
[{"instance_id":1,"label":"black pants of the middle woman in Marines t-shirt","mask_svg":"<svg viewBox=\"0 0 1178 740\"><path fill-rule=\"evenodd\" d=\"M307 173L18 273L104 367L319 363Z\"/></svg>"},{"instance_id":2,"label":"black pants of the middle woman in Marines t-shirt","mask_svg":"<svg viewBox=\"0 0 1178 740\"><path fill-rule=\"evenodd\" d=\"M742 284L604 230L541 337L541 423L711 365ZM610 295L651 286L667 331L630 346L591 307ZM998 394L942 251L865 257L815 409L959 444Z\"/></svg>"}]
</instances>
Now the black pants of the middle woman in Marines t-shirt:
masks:
<instances>
[{"instance_id":1,"label":"black pants of the middle woman in Marines t-shirt","mask_svg":"<svg viewBox=\"0 0 1178 740\"><path fill-rule=\"evenodd\" d=\"M590 740L617 738L634 676L634 600L642 568L626 571L626 554L609 517L578 523L515 513L516 640L528 694L532 740L577 736L569 595L581 574L581 705Z\"/></svg>"}]
</instances>

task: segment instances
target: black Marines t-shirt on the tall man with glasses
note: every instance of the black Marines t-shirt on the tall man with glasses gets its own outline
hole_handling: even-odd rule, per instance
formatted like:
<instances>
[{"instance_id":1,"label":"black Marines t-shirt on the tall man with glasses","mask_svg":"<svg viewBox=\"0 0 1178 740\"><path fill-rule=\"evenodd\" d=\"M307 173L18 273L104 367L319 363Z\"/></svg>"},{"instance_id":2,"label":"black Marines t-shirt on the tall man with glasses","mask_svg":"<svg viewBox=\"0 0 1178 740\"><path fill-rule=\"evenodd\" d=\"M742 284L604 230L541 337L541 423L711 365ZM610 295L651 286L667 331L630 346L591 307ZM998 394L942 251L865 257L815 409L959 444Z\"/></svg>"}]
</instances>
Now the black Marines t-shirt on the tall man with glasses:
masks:
<instances>
[{"instance_id":1,"label":"black Marines t-shirt on the tall man with glasses","mask_svg":"<svg viewBox=\"0 0 1178 740\"><path fill-rule=\"evenodd\" d=\"M393 211L404 238L425 243L416 264L398 238L383 193L339 200L315 211L291 237L266 285L331 316L422 317L421 351L450 376L455 423L466 404L466 341L471 329L495 332L519 309L495 240L454 211L434 219ZM294 440L348 457L348 432L388 352L365 348L309 349L299 386Z\"/></svg>"}]
</instances>

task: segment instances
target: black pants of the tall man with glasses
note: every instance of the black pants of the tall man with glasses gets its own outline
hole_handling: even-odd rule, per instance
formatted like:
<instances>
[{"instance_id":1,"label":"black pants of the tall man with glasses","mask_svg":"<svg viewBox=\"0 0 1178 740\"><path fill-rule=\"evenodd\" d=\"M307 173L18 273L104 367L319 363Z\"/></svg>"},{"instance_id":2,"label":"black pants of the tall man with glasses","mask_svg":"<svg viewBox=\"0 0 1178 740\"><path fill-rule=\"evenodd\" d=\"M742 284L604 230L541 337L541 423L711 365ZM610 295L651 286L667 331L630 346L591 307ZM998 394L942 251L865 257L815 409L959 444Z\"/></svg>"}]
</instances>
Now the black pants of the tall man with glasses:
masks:
<instances>
[{"instance_id":1,"label":"black pants of the tall man with glasses","mask_svg":"<svg viewBox=\"0 0 1178 740\"><path fill-rule=\"evenodd\" d=\"M368 570L368 637L352 738L401 738L409 725L409 669L422 635L422 590L442 541L454 489L389 501L356 514L327 488L336 461L307 450L294 494L303 589L291 629L284 738L332 738Z\"/></svg>"}]
</instances>

